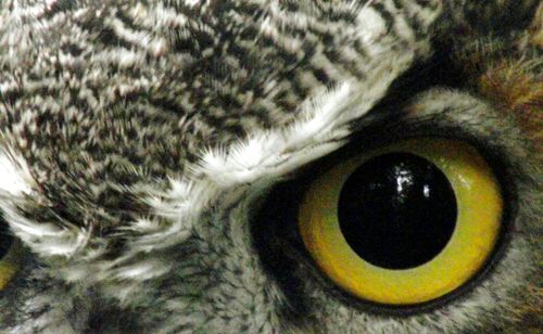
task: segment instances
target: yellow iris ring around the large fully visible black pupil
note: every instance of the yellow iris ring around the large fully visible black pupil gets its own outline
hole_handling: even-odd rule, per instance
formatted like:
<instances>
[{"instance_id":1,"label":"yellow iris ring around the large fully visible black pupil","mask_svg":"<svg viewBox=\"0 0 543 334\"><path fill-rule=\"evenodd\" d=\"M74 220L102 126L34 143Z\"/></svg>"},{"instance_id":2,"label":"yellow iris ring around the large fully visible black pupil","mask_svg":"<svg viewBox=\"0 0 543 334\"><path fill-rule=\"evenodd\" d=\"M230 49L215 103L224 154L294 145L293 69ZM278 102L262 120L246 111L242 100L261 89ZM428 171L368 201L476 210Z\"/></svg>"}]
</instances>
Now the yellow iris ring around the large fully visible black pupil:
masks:
<instances>
[{"instance_id":1,"label":"yellow iris ring around the large fully visible black pupil","mask_svg":"<svg viewBox=\"0 0 543 334\"><path fill-rule=\"evenodd\" d=\"M350 246L340 228L338 203L348 178L370 158L388 153L409 153L431 162L456 197L456 221L446 245L414 268L370 264ZM354 157L314 180L302 201L299 224L306 248L336 284L364 300L400 306L439 298L473 278L495 248L502 211L497 181L473 146L444 139L412 139Z\"/></svg>"}]
</instances>

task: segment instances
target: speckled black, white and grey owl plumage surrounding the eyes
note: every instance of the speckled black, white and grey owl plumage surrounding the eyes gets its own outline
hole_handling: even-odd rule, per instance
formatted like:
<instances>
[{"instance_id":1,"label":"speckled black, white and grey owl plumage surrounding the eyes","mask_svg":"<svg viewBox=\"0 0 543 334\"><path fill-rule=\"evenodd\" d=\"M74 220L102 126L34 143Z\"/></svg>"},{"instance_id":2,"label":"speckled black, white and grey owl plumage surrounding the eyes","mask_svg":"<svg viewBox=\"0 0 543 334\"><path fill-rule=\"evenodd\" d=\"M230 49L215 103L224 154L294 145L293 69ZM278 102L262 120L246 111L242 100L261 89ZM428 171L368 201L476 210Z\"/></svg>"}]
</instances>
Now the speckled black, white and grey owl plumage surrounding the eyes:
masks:
<instances>
[{"instance_id":1,"label":"speckled black, white and grey owl plumage surrounding the eyes","mask_svg":"<svg viewBox=\"0 0 543 334\"><path fill-rule=\"evenodd\" d=\"M539 301L518 288L539 286L541 90L508 103L495 85L479 85L492 75L508 82L501 62L541 85L539 33L527 28L536 1L0 5L0 175L11 181L0 183L0 208L28 248L0 292L0 331L540 324ZM534 116L519 121L527 108ZM302 260L269 272L253 244L257 204L351 134L459 137L504 160L518 233L488 280L441 308L397 317L328 293ZM295 293L277 275L292 275Z\"/></svg>"}]
</instances>

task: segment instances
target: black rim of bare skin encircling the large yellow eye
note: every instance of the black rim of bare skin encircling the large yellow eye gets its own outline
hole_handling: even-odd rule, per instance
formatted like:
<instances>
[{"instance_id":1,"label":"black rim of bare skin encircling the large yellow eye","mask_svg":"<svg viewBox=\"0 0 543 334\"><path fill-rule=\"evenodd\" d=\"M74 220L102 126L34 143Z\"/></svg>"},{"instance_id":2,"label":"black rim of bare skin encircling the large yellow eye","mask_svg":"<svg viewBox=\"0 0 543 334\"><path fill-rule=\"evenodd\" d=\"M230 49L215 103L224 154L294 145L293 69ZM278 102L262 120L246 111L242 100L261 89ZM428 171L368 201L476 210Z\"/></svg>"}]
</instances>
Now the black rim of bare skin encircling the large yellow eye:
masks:
<instances>
[{"instance_id":1,"label":"black rim of bare skin encircling the large yellow eye","mask_svg":"<svg viewBox=\"0 0 543 334\"><path fill-rule=\"evenodd\" d=\"M320 287L325 291L326 294L330 295L330 297L337 298L341 300L343 304L358 309L361 311L375 313L379 316L394 316L394 317L411 317L414 314L427 313L429 311L441 308L445 305L452 304L453 301L462 301L466 298L470 292L477 288L482 282L489 280L494 273L495 267L500 264L500 261L505 256L507 249L509 248L509 244L512 241L513 232L514 232L514 222L517 211L517 192L515 188L515 182L513 182L513 178L510 177L507 168L507 164L504 162L504 154L500 152L500 150L495 147L489 147L481 143L480 140L473 138L469 133L460 132L457 129L447 129L449 131L440 131L434 136L429 136L428 129L427 131L416 131L418 133L411 133L412 136L397 137L397 138L389 138L387 141L381 141L375 138L355 138L350 144L345 147L339 150L338 152L332 153L330 156L324 157L311 166L307 166L302 170L302 172L296 176L294 180L286 181L274 187L274 189L269 192L266 200L261 204L261 208L257 211L255 217L255 221L258 221L257 226L260 228L253 228L255 231L253 233L254 245L257 248L258 253L262 254L262 247L258 246L260 243L265 242L266 237L262 237L262 231L257 231L262 229L262 227L266 226L266 228L262 229L264 231L267 230L268 233L278 233L279 237L286 240L291 249L296 252L298 255L290 255L290 257L296 257L298 259L303 259L306 265L311 268L312 277L317 279ZM363 300L357 298L356 296L343 291L341 287L337 286L324 272L321 272L313 260L311 254L305 248L302 236L300 235L298 229L298 208L301 202L303 194L306 189L311 184L311 181L317 178L319 175L326 172L329 168L334 166L341 160L348 159L349 157L354 156L355 154L359 154L359 149L365 147L365 150L378 149L380 146L384 146L392 142L405 139L414 139L414 138L441 138L441 139L450 139L450 140L460 140L465 141L471 145L473 145L481 156L489 163L494 175L497 179L501 193L504 200L504 211L502 216L502 228L500 231L500 235L495 245L494 251L489 256L485 264L481 267L479 272L477 272L471 279L469 279L466 283L464 283L460 287L455 291L441 296L439 298L416 304L416 305L406 305L406 306L397 306L397 305L384 305L378 304L369 300ZM497 171L502 172L497 172ZM276 207L270 206L270 198L274 196L279 197L283 201L281 203L276 202ZM289 205L289 203L294 203L294 205ZM272 208L272 209L270 209ZM274 216L273 213L281 213L281 217L283 219L279 219L282 223L277 223L277 216ZM269 229L269 227L274 227ZM279 231L279 232L278 232ZM257 237L261 234L261 237ZM260 249L258 249L260 248ZM267 249L269 251L269 249ZM265 251L266 252L266 251ZM283 254L285 255L285 254ZM265 258L263 259L265 261ZM273 271L273 268L268 268L268 271Z\"/></svg>"}]
</instances>

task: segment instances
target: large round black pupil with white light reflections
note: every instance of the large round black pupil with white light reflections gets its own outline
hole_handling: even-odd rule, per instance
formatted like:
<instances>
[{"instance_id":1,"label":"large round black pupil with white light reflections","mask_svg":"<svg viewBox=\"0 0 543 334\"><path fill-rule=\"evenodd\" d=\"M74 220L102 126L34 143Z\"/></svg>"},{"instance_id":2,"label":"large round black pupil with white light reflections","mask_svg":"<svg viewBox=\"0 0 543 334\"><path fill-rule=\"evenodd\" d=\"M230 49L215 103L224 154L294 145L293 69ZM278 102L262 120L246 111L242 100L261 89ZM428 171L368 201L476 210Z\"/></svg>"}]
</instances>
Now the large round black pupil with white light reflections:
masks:
<instances>
[{"instance_id":1,"label":"large round black pupil with white light reflections","mask_svg":"<svg viewBox=\"0 0 543 334\"><path fill-rule=\"evenodd\" d=\"M381 268L408 269L445 247L456 223L456 197L443 172L426 158L389 153L349 177L338 215L359 257Z\"/></svg>"}]
</instances>

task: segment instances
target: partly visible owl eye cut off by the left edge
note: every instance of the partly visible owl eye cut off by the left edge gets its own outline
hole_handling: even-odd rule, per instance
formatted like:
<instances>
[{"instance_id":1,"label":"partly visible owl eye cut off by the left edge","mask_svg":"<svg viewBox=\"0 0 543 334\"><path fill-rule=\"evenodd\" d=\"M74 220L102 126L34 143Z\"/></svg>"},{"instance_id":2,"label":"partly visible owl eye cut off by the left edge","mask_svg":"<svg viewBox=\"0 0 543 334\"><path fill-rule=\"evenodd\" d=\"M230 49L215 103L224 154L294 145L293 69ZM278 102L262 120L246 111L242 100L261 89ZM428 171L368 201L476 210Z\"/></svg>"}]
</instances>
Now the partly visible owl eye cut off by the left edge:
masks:
<instances>
[{"instance_id":1,"label":"partly visible owl eye cut off by the left edge","mask_svg":"<svg viewBox=\"0 0 543 334\"><path fill-rule=\"evenodd\" d=\"M17 272L22 254L21 244L10 234L8 223L0 217L0 291Z\"/></svg>"}]
</instances>

